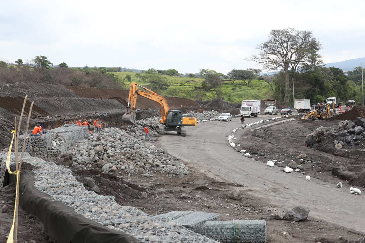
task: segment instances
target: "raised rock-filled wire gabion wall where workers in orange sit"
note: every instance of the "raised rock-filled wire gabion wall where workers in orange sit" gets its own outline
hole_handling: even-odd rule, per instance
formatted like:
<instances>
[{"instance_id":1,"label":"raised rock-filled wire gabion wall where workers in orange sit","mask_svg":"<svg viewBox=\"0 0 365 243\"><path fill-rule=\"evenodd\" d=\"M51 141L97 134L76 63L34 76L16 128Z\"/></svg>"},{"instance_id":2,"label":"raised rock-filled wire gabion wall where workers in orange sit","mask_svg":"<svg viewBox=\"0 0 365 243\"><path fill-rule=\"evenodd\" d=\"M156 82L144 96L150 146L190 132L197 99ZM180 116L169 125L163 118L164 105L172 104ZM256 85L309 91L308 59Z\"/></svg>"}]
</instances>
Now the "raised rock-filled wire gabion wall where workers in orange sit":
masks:
<instances>
[{"instance_id":1,"label":"raised rock-filled wire gabion wall where workers in orange sit","mask_svg":"<svg viewBox=\"0 0 365 243\"><path fill-rule=\"evenodd\" d=\"M87 136L87 126L65 125L48 130L43 136L30 136L26 138L25 150L33 156L39 156L44 160L55 161L60 154L67 151L68 146L77 139ZM24 135L19 137L18 149L23 146ZM52 146L52 141L56 142Z\"/></svg>"}]
</instances>

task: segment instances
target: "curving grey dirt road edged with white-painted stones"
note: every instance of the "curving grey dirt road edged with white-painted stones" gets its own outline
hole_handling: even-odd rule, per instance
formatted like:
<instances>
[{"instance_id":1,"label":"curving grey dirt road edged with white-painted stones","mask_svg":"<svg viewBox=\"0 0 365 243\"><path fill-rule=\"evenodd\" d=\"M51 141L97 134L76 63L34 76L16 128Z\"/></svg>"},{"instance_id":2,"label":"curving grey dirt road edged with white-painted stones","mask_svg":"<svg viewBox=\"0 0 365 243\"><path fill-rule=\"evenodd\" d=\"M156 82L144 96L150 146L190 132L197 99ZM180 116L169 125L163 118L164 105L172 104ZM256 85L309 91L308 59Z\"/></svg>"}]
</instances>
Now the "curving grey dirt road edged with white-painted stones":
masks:
<instances>
[{"instance_id":1,"label":"curving grey dirt road edged with white-painted stones","mask_svg":"<svg viewBox=\"0 0 365 243\"><path fill-rule=\"evenodd\" d=\"M246 123L272 117L259 115L258 118L247 118ZM239 126L239 118L232 122L204 122L195 128L188 127L186 137L166 134L158 143L166 151L179 156L185 165L199 169L207 176L247 186L240 189L261 203L286 209L306 205L312 217L365 232L364 195L350 194L347 185L337 188L335 184L315 178L306 181L306 175L284 173L279 171L283 168L270 168L266 161L258 162L235 152L227 137L233 134L238 138L248 131L240 129L233 133L232 130Z\"/></svg>"}]
</instances>

